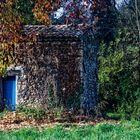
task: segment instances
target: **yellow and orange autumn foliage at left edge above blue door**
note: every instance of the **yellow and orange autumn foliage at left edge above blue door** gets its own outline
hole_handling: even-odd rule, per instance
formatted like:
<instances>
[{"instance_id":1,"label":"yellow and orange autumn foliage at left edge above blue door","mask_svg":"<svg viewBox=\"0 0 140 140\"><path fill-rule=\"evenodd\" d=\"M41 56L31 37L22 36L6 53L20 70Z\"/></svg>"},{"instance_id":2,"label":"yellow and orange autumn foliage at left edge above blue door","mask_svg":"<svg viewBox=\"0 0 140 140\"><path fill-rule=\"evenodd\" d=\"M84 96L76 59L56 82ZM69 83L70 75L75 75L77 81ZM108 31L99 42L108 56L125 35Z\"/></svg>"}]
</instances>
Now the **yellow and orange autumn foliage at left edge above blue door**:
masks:
<instances>
[{"instance_id":1,"label":"yellow and orange autumn foliage at left edge above blue door","mask_svg":"<svg viewBox=\"0 0 140 140\"><path fill-rule=\"evenodd\" d=\"M2 99L2 76L7 67L13 64L14 49L21 39L21 19L11 6L12 0L0 2L0 99Z\"/></svg>"}]
</instances>

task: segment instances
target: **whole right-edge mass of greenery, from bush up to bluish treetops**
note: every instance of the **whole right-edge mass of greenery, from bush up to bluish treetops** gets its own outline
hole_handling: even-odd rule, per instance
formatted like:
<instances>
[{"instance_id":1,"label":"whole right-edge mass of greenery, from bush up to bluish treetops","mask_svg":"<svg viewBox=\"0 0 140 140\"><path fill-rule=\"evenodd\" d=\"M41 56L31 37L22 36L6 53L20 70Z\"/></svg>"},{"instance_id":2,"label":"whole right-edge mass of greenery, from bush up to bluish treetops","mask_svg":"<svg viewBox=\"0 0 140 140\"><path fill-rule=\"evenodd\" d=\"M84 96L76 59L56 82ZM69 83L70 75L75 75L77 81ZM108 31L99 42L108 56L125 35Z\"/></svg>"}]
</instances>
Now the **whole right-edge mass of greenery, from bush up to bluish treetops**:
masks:
<instances>
[{"instance_id":1,"label":"whole right-edge mass of greenery, from bush up to bluish treetops","mask_svg":"<svg viewBox=\"0 0 140 140\"><path fill-rule=\"evenodd\" d=\"M135 2L120 7L118 35L109 47L100 47L99 90L106 111L140 119L140 4Z\"/></svg>"}]
</instances>

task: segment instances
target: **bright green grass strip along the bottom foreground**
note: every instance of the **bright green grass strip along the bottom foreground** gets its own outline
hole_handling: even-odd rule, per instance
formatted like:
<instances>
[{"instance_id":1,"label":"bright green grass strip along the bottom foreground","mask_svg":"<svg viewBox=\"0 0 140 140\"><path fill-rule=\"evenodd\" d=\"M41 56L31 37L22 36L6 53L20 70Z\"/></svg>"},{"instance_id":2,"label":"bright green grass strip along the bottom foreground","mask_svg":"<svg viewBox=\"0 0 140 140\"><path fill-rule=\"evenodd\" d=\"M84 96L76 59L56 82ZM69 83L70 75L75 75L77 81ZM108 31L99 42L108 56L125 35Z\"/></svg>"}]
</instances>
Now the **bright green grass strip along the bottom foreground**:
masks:
<instances>
[{"instance_id":1,"label":"bright green grass strip along the bottom foreground","mask_svg":"<svg viewBox=\"0 0 140 140\"><path fill-rule=\"evenodd\" d=\"M99 123L96 126L57 125L42 131L24 128L0 132L0 140L140 140L140 122Z\"/></svg>"}]
</instances>

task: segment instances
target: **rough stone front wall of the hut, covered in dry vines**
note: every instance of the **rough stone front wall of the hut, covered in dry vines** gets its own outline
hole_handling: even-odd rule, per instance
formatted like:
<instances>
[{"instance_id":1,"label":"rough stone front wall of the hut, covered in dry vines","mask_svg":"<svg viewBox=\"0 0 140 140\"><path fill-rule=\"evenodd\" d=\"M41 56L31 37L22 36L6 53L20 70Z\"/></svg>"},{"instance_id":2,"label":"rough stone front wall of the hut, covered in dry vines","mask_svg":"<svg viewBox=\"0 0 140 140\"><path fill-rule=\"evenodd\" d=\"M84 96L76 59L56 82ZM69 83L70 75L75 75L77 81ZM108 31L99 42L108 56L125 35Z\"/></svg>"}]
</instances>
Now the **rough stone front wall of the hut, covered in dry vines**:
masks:
<instances>
[{"instance_id":1,"label":"rough stone front wall of the hut, covered in dry vines","mask_svg":"<svg viewBox=\"0 0 140 140\"><path fill-rule=\"evenodd\" d=\"M18 78L18 105L68 106L69 98L75 98L80 92L80 43L79 40L26 43L21 58L24 73Z\"/></svg>"}]
</instances>

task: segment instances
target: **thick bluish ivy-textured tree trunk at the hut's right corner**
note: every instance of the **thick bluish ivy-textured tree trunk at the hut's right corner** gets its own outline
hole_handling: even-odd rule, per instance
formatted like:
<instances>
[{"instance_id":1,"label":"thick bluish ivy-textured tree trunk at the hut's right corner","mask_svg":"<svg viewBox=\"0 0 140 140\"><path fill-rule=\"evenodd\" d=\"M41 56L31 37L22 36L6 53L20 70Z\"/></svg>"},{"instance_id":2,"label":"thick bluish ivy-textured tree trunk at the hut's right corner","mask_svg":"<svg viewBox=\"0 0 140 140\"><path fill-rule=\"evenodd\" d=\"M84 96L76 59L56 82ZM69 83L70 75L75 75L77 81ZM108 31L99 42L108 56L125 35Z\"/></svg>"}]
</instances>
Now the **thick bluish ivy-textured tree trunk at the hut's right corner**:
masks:
<instances>
[{"instance_id":1,"label":"thick bluish ivy-textured tree trunk at the hut's right corner","mask_svg":"<svg viewBox=\"0 0 140 140\"><path fill-rule=\"evenodd\" d=\"M99 43L87 38L83 48L83 93L81 108L85 115L95 114L97 105L97 55Z\"/></svg>"}]
</instances>

